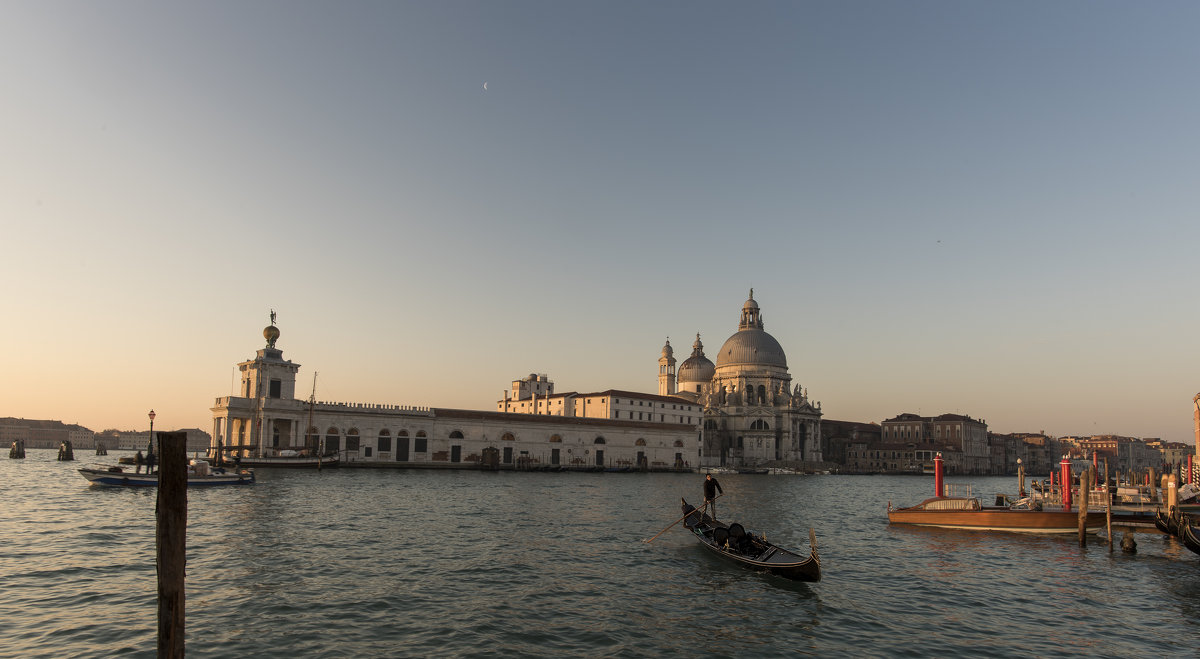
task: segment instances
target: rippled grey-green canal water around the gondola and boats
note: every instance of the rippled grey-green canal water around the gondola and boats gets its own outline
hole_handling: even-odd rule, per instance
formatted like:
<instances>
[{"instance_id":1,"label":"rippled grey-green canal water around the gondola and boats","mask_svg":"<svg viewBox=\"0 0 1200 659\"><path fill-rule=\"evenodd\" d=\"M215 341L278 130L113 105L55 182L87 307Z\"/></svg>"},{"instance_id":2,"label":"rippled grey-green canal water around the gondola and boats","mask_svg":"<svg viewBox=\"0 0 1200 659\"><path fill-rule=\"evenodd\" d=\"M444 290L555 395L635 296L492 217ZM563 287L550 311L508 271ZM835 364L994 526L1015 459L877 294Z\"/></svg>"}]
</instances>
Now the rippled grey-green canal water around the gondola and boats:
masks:
<instances>
[{"instance_id":1,"label":"rippled grey-green canal water around the gondola and boats","mask_svg":"<svg viewBox=\"0 0 1200 659\"><path fill-rule=\"evenodd\" d=\"M90 486L77 455L0 461L0 655L152 657L156 492ZM721 519L802 552L816 528L820 583L730 565L678 526L643 543L700 498L697 474L262 469L192 490L187 653L1195 654L1200 556L1174 539L1110 555L889 527L922 477L719 478Z\"/></svg>"}]
</instances>

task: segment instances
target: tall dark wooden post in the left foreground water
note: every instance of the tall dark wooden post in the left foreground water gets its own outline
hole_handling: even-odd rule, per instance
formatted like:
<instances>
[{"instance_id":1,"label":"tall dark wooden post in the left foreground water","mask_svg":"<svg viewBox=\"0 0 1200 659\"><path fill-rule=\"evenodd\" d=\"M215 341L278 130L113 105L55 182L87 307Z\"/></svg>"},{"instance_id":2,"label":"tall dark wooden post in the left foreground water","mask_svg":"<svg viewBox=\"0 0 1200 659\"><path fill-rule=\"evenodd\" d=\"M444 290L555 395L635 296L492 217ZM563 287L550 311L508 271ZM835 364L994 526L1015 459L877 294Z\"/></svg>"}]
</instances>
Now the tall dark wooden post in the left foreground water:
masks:
<instances>
[{"instance_id":1,"label":"tall dark wooden post in the left foreground water","mask_svg":"<svg viewBox=\"0 0 1200 659\"><path fill-rule=\"evenodd\" d=\"M158 433L158 658L184 657L184 568L187 550L187 433Z\"/></svg>"}]
</instances>

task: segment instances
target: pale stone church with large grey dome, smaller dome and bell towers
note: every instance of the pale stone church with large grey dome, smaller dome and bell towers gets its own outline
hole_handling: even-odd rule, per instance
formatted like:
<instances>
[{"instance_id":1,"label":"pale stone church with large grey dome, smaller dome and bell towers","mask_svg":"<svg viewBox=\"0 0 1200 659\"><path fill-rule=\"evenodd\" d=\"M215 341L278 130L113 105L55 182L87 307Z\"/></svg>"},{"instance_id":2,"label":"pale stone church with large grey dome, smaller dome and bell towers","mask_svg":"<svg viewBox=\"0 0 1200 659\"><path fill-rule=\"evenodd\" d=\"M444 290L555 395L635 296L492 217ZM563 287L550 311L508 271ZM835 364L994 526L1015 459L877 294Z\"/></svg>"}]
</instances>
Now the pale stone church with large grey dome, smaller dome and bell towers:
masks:
<instances>
[{"instance_id":1,"label":"pale stone church with large grey dome, smaller dome and bell towers","mask_svg":"<svg viewBox=\"0 0 1200 659\"><path fill-rule=\"evenodd\" d=\"M702 467L822 461L821 403L792 387L787 355L763 329L754 289L742 305L738 331L721 345L716 364L704 355L698 334L678 372L671 342L662 347L659 394L703 406Z\"/></svg>"}]
</instances>

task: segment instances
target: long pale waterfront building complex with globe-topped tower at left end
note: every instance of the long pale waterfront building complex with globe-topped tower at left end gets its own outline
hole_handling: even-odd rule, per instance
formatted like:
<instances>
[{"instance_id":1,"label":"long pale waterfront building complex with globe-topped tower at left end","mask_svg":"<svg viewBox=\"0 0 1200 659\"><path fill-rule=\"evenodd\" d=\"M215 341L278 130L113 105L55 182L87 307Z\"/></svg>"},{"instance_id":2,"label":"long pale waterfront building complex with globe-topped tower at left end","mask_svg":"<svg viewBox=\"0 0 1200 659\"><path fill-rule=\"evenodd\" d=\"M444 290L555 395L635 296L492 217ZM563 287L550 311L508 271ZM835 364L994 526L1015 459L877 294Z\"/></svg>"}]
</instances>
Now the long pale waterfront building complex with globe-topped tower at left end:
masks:
<instances>
[{"instance_id":1,"label":"long pale waterfront building complex with globe-topped tower at left end","mask_svg":"<svg viewBox=\"0 0 1200 659\"><path fill-rule=\"evenodd\" d=\"M284 359L275 347L280 330L274 318L263 336L266 346L238 365L238 395L215 400L212 451L229 457L336 453L343 463L378 467L472 468L482 465L490 451L496 451L499 465L511 468L695 467L695 421L668 419L686 418L679 400L668 399L677 406L671 409L676 414L655 407L652 415L642 405L640 419L629 418L632 408L626 397L646 403L647 395L574 395L558 399L552 407L546 401L553 383L536 375L515 382L515 395L505 396L511 407L528 394L523 413L305 400L296 396L300 364ZM539 407L535 397L542 403L541 413L533 412ZM602 417L590 415L589 401L606 411Z\"/></svg>"}]
</instances>

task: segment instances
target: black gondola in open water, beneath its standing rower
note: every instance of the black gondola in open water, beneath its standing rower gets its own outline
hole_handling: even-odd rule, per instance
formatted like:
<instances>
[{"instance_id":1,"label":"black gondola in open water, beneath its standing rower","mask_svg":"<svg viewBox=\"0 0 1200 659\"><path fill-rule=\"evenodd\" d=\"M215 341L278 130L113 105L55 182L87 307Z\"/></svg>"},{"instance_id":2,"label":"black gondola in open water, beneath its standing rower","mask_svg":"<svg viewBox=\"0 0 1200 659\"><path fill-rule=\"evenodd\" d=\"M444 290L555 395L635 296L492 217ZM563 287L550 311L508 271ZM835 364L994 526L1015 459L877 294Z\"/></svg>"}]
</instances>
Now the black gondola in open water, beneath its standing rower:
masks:
<instances>
[{"instance_id":1,"label":"black gondola in open water, beneath its standing rower","mask_svg":"<svg viewBox=\"0 0 1200 659\"><path fill-rule=\"evenodd\" d=\"M762 535L746 532L745 527L737 522L731 525L719 522L708 514L696 510L686 501L680 501L685 515L684 526L709 551L748 568L766 570L787 579L821 581L821 557L817 556L817 539L811 528L809 556L802 557L768 543Z\"/></svg>"}]
</instances>

